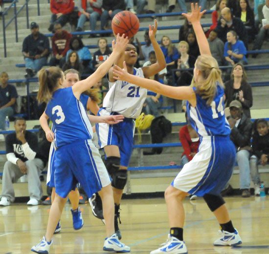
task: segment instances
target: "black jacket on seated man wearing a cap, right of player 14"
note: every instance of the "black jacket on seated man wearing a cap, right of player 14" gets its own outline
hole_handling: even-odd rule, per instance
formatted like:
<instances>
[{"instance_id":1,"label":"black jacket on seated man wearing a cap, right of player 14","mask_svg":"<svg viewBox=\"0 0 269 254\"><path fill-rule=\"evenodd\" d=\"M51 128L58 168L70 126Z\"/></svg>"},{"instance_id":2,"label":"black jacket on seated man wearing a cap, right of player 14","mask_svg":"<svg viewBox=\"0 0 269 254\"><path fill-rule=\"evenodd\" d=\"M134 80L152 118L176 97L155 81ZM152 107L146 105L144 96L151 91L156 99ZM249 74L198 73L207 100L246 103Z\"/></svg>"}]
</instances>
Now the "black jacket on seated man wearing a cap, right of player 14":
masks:
<instances>
[{"instance_id":1,"label":"black jacket on seated man wearing a cap, right of player 14","mask_svg":"<svg viewBox=\"0 0 269 254\"><path fill-rule=\"evenodd\" d=\"M250 138L252 133L252 122L244 114L237 127L231 129L230 138L236 149L239 147L250 146Z\"/></svg>"}]
</instances>

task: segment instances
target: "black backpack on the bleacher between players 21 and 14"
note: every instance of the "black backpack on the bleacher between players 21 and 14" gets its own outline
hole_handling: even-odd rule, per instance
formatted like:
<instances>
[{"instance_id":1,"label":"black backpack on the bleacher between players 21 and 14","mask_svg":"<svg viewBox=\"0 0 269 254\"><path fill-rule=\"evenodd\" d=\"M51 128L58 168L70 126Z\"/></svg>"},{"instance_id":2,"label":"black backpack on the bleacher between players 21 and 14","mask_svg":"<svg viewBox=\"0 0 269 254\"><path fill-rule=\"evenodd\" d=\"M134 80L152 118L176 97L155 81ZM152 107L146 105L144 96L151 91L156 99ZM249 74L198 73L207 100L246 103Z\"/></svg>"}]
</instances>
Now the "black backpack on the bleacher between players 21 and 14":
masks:
<instances>
[{"instance_id":1,"label":"black backpack on the bleacher between players 21 and 14","mask_svg":"<svg viewBox=\"0 0 269 254\"><path fill-rule=\"evenodd\" d=\"M162 143L163 138L172 132L172 123L164 116L153 119L150 126L151 141L153 144ZM145 152L145 155L160 154L162 147L154 147L151 153Z\"/></svg>"}]
</instances>

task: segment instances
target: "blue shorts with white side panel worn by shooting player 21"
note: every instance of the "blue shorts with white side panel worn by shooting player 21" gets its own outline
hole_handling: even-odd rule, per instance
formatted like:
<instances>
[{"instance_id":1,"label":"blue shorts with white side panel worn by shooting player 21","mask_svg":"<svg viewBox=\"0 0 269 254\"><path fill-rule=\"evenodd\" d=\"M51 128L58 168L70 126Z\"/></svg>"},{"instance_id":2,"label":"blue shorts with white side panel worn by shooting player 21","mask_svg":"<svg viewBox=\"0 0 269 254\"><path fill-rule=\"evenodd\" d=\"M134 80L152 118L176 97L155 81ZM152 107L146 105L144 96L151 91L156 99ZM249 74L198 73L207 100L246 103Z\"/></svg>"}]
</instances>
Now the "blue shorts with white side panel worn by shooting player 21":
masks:
<instances>
[{"instance_id":1,"label":"blue shorts with white side panel worn by shooting player 21","mask_svg":"<svg viewBox=\"0 0 269 254\"><path fill-rule=\"evenodd\" d=\"M115 112L108 112L101 108L97 116L118 115ZM124 118L123 122L109 125L106 123L97 123L96 132L99 138L101 148L107 145L116 145L120 153L120 165L128 167L134 146L134 118Z\"/></svg>"}]
</instances>

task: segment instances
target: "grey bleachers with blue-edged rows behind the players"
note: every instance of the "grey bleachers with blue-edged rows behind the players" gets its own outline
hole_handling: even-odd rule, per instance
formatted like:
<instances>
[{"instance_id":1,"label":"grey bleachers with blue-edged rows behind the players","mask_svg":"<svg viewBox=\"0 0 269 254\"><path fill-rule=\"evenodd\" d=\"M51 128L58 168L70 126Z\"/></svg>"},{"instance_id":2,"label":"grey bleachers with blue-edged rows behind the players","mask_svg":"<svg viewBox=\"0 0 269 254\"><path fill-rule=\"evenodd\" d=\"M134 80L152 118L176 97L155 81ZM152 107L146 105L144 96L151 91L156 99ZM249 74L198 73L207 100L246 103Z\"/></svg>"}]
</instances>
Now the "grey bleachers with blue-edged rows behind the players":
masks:
<instances>
[{"instance_id":1,"label":"grey bleachers with blue-edged rows behind the players","mask_svg":"<svg viewBox=\"0 0 269 254\"><path fill-rule=\"evenodd\" d=\"M25 0L18 0L17 6L20 7L25 2ZM209 1L208 1L209 2ZM213 1L211 1L211 5L213 5ZM50 10L49 3L47 0L40 0L40 13L41 16L37 16L37 7L36 2L33 1L29 4L29 22L37 21L40 26L40 32L51 36L48 34L47 28L49 26L50 20ZM161 10L162 5L157 0L156 10ZM176 4L175 12L179 12L178 4ZM6 17L12 17L12 10L6 15ZM157 40L159 40L163 35L167 35L172 39L173 43L178 43L179 39L179 27L183 24L184 20L179 20L178 14L173 14L171 16L164 16L165 14L156 15L158 20L158 33ZM153 19L150 17L151 15L141 15L139 18L140 21L140 31L137 33L135 37L139 39L139 41L144 43L144 30L147 29L149 23L153 23ZM175 21L177 20L177 21ZM7 39L7 58L3 58L3 51L1 51L1 59L0 66L1 71L6 71L9 74L10 81L13 84L22 83L22 86L17 86L18 93L20 95L26 95L27 89L28 92L31 93L33 90L38 88L37 78L33 78L29 82L28 87L25 86L26 79L24 79L24 61L22 57L22 40L25 36L30 34L30 29L27 29L25 11L22 12L18 16L18 38L19 42L15 42L15 33L14 33L14 25L11 24L6 31L6 39ZM202 23L204 27L208 27L211 24L211 13L205 15L205 18L202 19ZM89 22L86 22L85 29L88 29ZM71 27L67 24L64 29L67 31L71 31ZM97 29L100 29L100 23L97 22ZM99 32L99 31L98 31ZM107 32L107 31L105 31ZM79 34L79 33L73 33ZM83 42L85 45L89 47L91 55L97 50L97 38L89 39L88 35L90 32L81 33L86 34L83 36ZM2 35L0 35L2 38ZM108 37L108 42L112 41L112 37ZM2 43L0 44L2 48ZM250 44L249 48L252 48ZM265 42L263 45L263 49L258 52L260 53L258 58L252 59L248 58L249 66L247 69L248 81L252 85L253 92L253 106L251 108L251 114L253 118L260 117L269 117L269 104L268 94L269 94L269 62L268 62L268 54L269 54L269 43ZM251 51L249 54L253 53ZM15 67L16 66L16 67ZM175 107L172 99L167 99L167 105L164 105L165 112L167 114L167 118L170 119L174 124L172 134L164 139L164 143L174 143L172 146L165 147L161 155L153 155L153 156L143 156L141 159L141 151L144 149L151 149L149 146L151 144L150 135L145 133L142 134L142 145L137 143L137 137L135 135L135 148L133 151L133 155L130 163L130 179L128 183L127 192L128 193L140 193L140 192L156 192L156 191L164 191L164 189L168 186L168 184L172 181L173 177L179 171L180 165L180 157L182 153L182 148L179 145L179 128L185 121L183 113L174 113L174 109L176 108L177 112L181 112L181 103L180 101L176 101ZM179 121L181 121L179 123ZM30 121L38 124L37 121ZM12 124L11 124L12 125ZM28 124L28 128L31 128ZM179 126L177 126L179 125ZM144 146L144 147L143 147ZM5 161L5 155L2 151L4 151L4 142L0 142L0 172L3 169L3 163ZM140 157L139 157L140 156ZM138 161L140 161L140 165L138 165ZM141 163L143 161L143 163ZM175 162L175 166L170 166L170 162ZM137 167L140 168L137 168ZM154 167L153 167L154 166ZM151 170L147 170L151 167ZM156 168L155 168L156 167ZM265 185L269 186L269 167L262 168L262 180L265 181ZM238 188L239 180L238 180L238 171L235 170L235 174L232 177L232 185L234 188ZM27 189L27 187L26 187Z\"/></svg>"}]
</instances>

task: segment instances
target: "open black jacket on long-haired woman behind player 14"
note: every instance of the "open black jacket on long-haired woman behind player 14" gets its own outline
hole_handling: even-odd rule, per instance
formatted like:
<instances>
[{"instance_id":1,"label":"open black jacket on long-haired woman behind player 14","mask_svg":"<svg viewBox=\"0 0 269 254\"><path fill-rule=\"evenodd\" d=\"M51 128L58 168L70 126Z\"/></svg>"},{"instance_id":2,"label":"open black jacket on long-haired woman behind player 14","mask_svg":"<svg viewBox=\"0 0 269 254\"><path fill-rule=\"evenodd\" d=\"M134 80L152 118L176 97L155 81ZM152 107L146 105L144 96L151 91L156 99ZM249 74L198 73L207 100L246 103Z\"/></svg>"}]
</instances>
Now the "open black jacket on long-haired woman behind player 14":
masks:
<instances>
[{"instance_id":1,"label":"open black jacket on long-haired woman behind player 14","mask_svg":"<svg viewBox=\"0 0 269 254\"><path fill-rule=\"evenodd\" d=\"M231 79L231 80L228 80L224 83L226 107L229 107L231 101L238 99L238 98L235 98L233 81L234 80ZM244 96L244 102L240 101L242 103L242 106L243 106L243 113L245 116L250 118L250 108L252 107L252 103L253 103L251 85L248 83L242 82L241 87L239 89L243 91L243 96Z\"/></svg>"}]
</instances>

